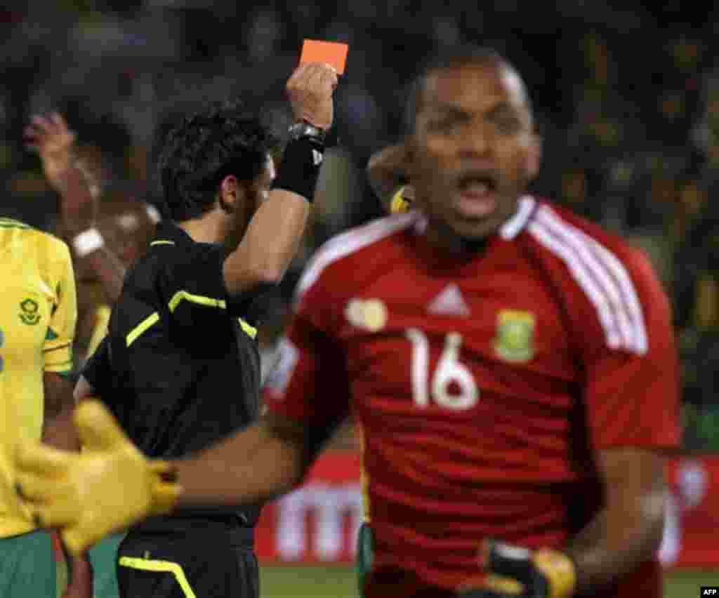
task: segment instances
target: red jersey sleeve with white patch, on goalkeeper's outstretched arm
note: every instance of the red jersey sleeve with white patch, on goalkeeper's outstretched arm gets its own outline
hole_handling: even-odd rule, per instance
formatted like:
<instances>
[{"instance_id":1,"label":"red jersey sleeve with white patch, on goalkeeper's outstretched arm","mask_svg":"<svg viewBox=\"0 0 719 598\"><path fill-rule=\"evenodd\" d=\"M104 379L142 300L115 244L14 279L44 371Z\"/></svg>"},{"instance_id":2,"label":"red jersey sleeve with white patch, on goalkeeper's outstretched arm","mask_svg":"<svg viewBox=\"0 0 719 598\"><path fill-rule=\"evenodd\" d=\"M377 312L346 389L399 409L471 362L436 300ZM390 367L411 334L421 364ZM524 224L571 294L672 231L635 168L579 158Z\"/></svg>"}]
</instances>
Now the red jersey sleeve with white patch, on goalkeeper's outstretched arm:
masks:
<instances>
[{"instance_id":1,"label":"red jersey sleeve with white patch, on goalkeeper's outstretched arm","mask_svg":"<svg viewBox=\"0 0 719 598\"><path fill-rule=\"evenodd\" d=\"M301 293L264 394L273 412L329 435L349 413L349 382L344 349L334 334L338 303L323 287L320 278Z\"/></svg>"}]
</instances>

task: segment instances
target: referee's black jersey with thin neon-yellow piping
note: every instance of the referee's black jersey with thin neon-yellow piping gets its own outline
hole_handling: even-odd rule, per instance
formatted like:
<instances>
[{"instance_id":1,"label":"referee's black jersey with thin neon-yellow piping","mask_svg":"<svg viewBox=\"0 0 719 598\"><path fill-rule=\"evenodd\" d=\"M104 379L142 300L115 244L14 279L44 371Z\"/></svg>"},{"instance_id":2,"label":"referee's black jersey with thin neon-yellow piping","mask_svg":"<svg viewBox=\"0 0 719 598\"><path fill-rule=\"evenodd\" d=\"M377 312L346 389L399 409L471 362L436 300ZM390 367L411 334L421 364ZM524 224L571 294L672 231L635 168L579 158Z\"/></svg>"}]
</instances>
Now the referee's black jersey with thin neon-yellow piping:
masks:
<instances>
[{"instance_id":1,"label":"referee's black jersey with thin neon-yellow piping","mask_svg":"<svg viewBox=\"0 0 719 598\"><path fill-rule=\"evenodd\" d=\"M184 456L257 420L261 293L228 295L227 254L160 223L127 272L109 334L83 369L149 457ZM258 510L243 513L251 524Z\"/></svg>"}]
</instances>

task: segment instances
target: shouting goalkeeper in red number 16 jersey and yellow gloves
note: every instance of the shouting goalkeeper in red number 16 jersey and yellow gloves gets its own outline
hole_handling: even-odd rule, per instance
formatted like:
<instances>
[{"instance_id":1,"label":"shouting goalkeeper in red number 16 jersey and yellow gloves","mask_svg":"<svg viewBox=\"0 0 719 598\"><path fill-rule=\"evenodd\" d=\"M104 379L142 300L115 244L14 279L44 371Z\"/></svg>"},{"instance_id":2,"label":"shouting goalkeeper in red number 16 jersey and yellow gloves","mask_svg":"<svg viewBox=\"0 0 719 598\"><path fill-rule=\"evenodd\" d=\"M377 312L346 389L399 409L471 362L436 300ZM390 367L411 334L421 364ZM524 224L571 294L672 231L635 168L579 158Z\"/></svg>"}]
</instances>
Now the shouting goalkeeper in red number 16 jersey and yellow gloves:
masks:
<instances>
[{"instance_id":1,"label":"shouting goalkeeper in red number 16 jersey and yellow gloves","mask_svg":"<svg viewBox=\"0 0 719 598\"><path fill-rule=\"evenodd\" d=\"M28 505L72 550L148 515L287 491L351 410L368 598L661 596L679 432L661 285L621 239L527 194L539 140L495 52L438 57L407 114L414 209L316 254L256 426L147 461L85 403L85 454L19 449Z\"/></svg>"}]
</instances>

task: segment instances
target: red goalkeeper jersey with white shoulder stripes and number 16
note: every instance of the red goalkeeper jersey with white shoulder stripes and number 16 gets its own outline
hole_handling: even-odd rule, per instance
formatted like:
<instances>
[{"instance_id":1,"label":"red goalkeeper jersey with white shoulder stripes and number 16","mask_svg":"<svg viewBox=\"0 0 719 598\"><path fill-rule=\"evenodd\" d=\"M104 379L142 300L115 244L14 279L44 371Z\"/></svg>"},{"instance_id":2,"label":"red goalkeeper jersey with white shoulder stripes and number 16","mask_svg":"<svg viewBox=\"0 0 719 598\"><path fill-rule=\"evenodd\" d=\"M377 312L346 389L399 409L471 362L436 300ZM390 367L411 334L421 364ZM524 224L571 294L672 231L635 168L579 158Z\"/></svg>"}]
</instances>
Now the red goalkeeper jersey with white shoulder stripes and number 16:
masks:
<instances>
[{"instance_id":1,"label":"red goalkeeper jersey with white shoulder stripes and number 16","mask_svg":"<svg viewBox=\"0 0 719 598\"><path fill-rule=\"evenodd\" d=\"M525 197L465 262L423 228L390 216L319 250L267 399L313 427L352 413L375 570L454 589L482 538L562 548L586 525L594 451L677 445L677 357L647 260L582 218ZM661 596L659 563L620 586Z\"/></svg>"}]
</instances>

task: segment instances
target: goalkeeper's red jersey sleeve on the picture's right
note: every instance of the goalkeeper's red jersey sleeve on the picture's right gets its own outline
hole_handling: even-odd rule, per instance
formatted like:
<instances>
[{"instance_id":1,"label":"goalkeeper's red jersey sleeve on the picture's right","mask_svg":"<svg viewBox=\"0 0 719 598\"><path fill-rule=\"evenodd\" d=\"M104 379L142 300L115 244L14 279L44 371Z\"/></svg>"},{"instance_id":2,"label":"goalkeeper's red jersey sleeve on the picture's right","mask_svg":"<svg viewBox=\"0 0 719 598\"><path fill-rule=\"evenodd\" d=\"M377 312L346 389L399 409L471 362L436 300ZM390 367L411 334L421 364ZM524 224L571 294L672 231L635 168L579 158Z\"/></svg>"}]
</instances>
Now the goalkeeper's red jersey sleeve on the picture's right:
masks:
<instances>
[{"instance_id":1,"label":"goalkeeper's red jersey sleeve on the picture's right","mask_svg":"<svg viewBox=\"0 0 719 598\"><path fill-rule=\"evenodd\" d=\"M626 313L618 334L628 342L610 348L601 335L583 335L585 405L592 446L677 446L678 360L671 309L649 261L630 250L614 263ZM597 342L601 341L601 342Z\"/></svg>"}]
</instances>

